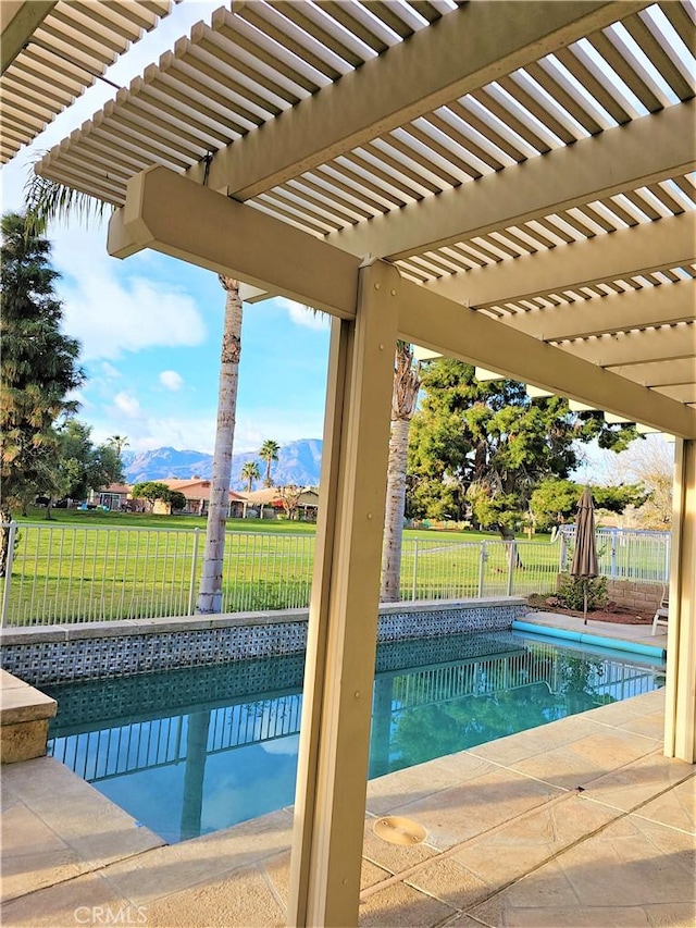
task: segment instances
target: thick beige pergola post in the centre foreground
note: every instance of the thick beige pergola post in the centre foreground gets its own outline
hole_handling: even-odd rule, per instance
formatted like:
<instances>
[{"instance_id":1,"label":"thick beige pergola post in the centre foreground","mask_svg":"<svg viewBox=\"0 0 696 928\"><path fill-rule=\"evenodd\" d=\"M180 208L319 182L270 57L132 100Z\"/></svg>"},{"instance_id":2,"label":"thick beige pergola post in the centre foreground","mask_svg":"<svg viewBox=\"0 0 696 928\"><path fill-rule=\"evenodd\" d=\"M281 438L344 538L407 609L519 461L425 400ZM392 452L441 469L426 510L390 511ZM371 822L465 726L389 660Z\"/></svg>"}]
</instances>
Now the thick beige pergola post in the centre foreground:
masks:
<instances>
[{"instance_id":1,"label":"thick beige pergola post in the centre foreground","mask_svg":"<svg viewBox=\"0 0 696 928\"><path fill-rule=\"evenodd\" d=\"M358 921L399 275L360 271L334 319L288 924Z\"/></svg>"}]
</instances>

